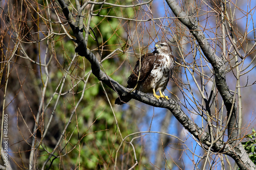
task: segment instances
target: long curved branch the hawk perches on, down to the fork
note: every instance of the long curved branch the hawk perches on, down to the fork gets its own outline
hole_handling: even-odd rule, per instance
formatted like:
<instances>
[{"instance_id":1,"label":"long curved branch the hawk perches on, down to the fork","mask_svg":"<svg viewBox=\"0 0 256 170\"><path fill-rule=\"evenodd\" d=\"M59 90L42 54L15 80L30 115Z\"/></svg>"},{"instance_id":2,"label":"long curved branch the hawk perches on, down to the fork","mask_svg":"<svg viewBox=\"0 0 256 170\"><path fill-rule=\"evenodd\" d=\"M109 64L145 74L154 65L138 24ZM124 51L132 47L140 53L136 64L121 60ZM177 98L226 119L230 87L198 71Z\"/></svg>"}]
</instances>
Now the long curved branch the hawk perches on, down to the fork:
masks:
<instances>
[{"instance_id":1,"label":"long curved branch the hawk perches on, down to the fork","mask_svg":"<svg viewBox=\"0 0 256 170\"><path fill-rule=\"evenodd\" d=\"M65 4L63 0L58 0L60 4ZM78 46L76 47L76 52L83 57L86 57L87 60L91 63L92 73L94 76L98 78L98 80L102 81L104 84L108 85L110 88L118 92L120 95L127 95L131 96L132 99L138 100L140 102L143 102L145 104L155 106L155 107L161 107L166 108L170 110L174 116L179 120L179 122L186 128L191 134L193 134L201 143L209 145L210 144L210 137L209 134L204 132L201 128L199 128L193 120L191 120L180 108L179 104L173 100L169 99L169 101L159 101L153 98L152 96L148 96L145 93L134 90L130 93L130 90L120 85L118 82L113 80L111 77L105 74L104 71L100 69L100 64L98 59L95 57L95 55L87 48L86 43L83 39L79 36L79 32L81 32L79 29L75 28L73 25L73 16L70 14L70 11L66 8L65 5L61 5L62 11L65 14L67 20L69 21L69 24L72 28L72 31L74 35L76 36L76 42L78 43ZM79 19L79 18L78 18Z\"/></svg>"}]
</instances>

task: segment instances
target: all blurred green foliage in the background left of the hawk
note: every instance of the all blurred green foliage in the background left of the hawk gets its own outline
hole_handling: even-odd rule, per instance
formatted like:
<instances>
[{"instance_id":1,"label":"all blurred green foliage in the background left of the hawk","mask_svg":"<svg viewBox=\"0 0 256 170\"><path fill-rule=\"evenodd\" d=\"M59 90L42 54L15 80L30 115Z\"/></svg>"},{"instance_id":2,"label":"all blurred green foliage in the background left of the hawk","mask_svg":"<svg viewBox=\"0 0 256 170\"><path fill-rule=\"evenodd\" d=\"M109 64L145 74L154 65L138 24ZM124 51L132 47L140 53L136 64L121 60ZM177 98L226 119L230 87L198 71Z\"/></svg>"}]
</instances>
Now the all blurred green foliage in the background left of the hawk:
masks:
<instances>
[{"instance_id":1,"label":"all blurred green foliage in the background left of the hawk","mask_svg":"<svg viewBox=\"0 0 256 170\"><path fill-rule=\"evenodd\" d=\"M42 3L42 1L40 2ZM74 1L71 2L74 3ZM127 4L132 4L131 0L124 0L119 2L119 4L125 4L126 2ZM108 1L108 3L115 4L117 2L112 0ZM69 4L68 7L76 19L75 3L73 5ZM95 5L93 13L96 14L100 11L99 15L132 18L135 15L134 10L136 8L116 8L109 5ZM61 14L60 9L56 10L59 10L59 14ZM88 26L88 12L90 12L90 5L84 10L84 28ZM55 23L54 18L51 19ZM38 22L41 22L39 25L45 26L47 24L47 22L42 22L40 19ZM138 131L137 126L131 126L132 120L126 122L123 119L122 111L116 111L114 108L115 113L113 112L112 107L114 107L114 100L117 97L117 94L113 90L110 88L103 89L100 81L93 74L89 74L89 78L88 76L84 77L84 75L87 75L91 71L91 64L88 60L80 56L72 60L73 56L76 55L75 43L67 35L62 34L64 32L61 27L53 23L51 26L53 32L59 34L40 42L42 48L41 53L47 52L44 58L46 60L42 59L46 63L42 62L42 64L48 64L48 74L45 74L45 69L42 69L42 79L47 80L49 78L49 81L46 83L47 86L45 86L46 93L43 100L44 113L40 115L40 120L38 121L38 129L41 131L38 130L36 132L36 135L39 136L36 136L36 142L38 142L36 144L39 145L35 156L37 159L36 166L42 167L45 161L51 156L45 168L76 169L80 165L81 169L113 169L116 151L121 143L116 119L122 137ZM90 23L91 29L88 48L99 58L99 47L103 53L101 54L102 59L116 48L121 49L127 41L125 28L127 24L129 24L127 20L93 16ZM50 28L49 25L47 26ZM70 27L66 23L64 27L73 36ZM41 29L44 28L42 27ZM98 40L98 43L94 40L95 38ZM47 50L43 49L43 47L47 47ZM29 49L30 46L27 45L26 48ZM121 52L116 52L116 56L106 59L101 63L102 70L113 79L125 84L126 82L122 82L122 76L127 78L131 71L127 72L123 66L119 66L126 57ZM35 68L37 67L36 65ZM27 67L24 68L27 69ZM40 77L33 77L33 79L36 80L37 85L41 84ZM64 83L62 83L63 81ZM83 98L75 109L82 96L85 83L86 90L84 91ZM38 99L41 97L40 90ZM36 101L36 103L39 104L40 101ZM35 113L37 113L38 108L33 110L36 110ZM70 119L73 113L74 116ZM34 119L32 117L32 120ZM69 126L67 126L68 124ZM40 141L48 125L48 132ZM65 128L67 129L62 134ZM61 135L63 136L60 144L56 146ZM129 140L131 138L126 139L126 141ZM133 141L137 159L143 160L143 150L140 149L140 142L136 142L136 139ZM54 150L55 147L57 148L56 150ZM123 142L118 156L118 167L123 166L121 161L125 161L127 166L134 164L134 153L130 143Z\"/></svg>"}]
</instances>

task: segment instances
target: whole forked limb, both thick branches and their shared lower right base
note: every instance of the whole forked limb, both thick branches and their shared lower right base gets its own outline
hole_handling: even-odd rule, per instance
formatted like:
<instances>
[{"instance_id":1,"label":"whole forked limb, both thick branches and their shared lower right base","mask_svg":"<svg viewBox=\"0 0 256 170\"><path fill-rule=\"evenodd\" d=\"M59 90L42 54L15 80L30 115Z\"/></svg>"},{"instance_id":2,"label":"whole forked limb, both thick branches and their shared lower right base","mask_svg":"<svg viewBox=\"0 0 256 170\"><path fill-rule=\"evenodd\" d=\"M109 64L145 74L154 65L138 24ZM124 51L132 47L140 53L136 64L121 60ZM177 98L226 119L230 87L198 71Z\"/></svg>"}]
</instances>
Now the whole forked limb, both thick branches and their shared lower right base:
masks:
<instances>
[{"instance_id":1,"label":"whole forked limb, both thick branches and their shared lower right base","mask_svg":"<svg viewBox=\"0 0 256 170\"><path fill-rule=\"evenodd\" d=\"M58 0L60 4L63 3L63 0ZM224 62L222 59L218 58L212 48L210 47L209 43L207 42L204 34L202 31L200 31L200 28L198 26L198 23L196 22L195 18L189 18L178 6L177 2L175 1L167 1L167 4L169 7L173 10L175 15L181 20L182 23L184 23L185 26L187 26L193 34L197 41L199 42L200 47L202 48L202 51L204 55L207 57L209 62L211 63L212 67L214 67L215 70L215 79L216 79L216 85L217 88L223 98L223 101L225 103L225 106L227 108L228 115L231 111L231 119L230 124L228 127L228 135L229 139L234 139L237 136L237 130L233 129L237 127L236 124L236 110L237 107L233 105L233 95L230 93L230 90L226 84L225 79L225 70L224 70ZM66 5L66 4L65 4ZM212 145L210 141L210 136L208 133L206 133L202 128L198 127L197 124L193 122L181 109L179 104L173 100L169 99L168 101L165 100L156 100L156 98L153 98L152 96L148 96L145 93L134 90L133 92L130 92L131 89L127 89L120 85L118 82L113 80L111 77L105 74L104 71L100 69L100 64L98 59L95 57L95 55L87 48L86 42L84 41L84 38L82 37L82 30L79 30L77 27L74 26L72 18L73 16L70 15L69 10L65 7L65 5L61 5L62 11L67 17L67 20L69 21L69 24L72 28L72 31L76 37L76 43L78 46L76 47L76 52L82 56L86 57L87 60L91 63L92 73L94 76L98 78L98 80L102 81L104 84L108 85L111 89L118 92L119 95L127 95L132 99L138 100L140 102L143 102L145 104L154 106L154 107L161 107L166 108L170 110L170 112L173 113L173 115L176 117L176 119L182 124L182 126L189 131L199 142L201 147L210 146ZM80 16L77 16L77 20L79 20ZM233 107L233 109L232 109ZM245 169L244 167L249 167L251 165L249 161L242 162L241 159L248 155L244 152L244 150L241 148L242 145L238 144L237 146L231 145L230 143L223 143L221 141L218 141L212 145L212 150L214 152L218 153L225 153L226 155L229 155L233 157L234 160L239 164L241 169ZM240 162L239 162L240 161ZM249 164L249 165L248 165ZM253 164L251 165L253 169L256 166Z\"/></svg>"}]
</instances>

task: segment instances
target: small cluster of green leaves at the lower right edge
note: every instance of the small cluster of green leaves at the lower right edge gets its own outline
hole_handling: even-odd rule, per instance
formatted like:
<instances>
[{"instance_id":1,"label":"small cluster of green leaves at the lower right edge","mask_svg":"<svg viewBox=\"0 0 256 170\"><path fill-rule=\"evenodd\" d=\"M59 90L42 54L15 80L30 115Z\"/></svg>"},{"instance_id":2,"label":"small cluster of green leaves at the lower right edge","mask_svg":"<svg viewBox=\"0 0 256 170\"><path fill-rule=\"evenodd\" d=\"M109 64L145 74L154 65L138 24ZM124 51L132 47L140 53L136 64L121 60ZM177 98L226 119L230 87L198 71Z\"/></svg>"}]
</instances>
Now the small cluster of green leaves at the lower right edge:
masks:
<instances>
[{"instance_id":1,"label":"small cluster of green leaves at the lower right edge","mask_svg":"<svg viewBox=\"0 0 256 170\"><path fill-rule=\"evenodd\" d=\"M254 129L252 129L252 133L247 135L245 138L248 139L248 141L242 142L242 145L244 149L247 151L247 154L249 155L249 158L252 160L254 164L256 164L256 132Z\"/></svg>"}]
</instances>

